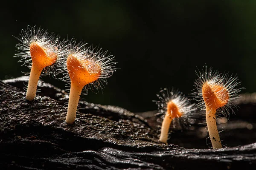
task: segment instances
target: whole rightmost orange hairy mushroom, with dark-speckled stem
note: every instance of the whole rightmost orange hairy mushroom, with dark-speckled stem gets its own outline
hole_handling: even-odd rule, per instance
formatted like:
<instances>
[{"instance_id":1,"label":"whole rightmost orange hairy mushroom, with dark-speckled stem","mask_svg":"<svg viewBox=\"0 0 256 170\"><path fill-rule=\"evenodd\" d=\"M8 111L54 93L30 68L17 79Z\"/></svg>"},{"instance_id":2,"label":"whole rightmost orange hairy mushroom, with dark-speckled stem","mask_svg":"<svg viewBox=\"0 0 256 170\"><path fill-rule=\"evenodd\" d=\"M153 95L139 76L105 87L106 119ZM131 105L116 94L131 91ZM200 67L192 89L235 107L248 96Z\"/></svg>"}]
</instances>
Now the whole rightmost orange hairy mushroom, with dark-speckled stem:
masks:
<instances>
[{"instance_id":1,"label":"whole rightmost orange hairy mushroom, with dark-speckled stem","mask_svg":"<svg viewBox=\"0 0 256 170\"><path fill-rule=\"evenodd\" d=\"M195 98L201 100L199 107L206 111L206 122L208 133L211 139L212 147L222 148L221 139L219 137L218 128L216 124L216 117L218 111L227 114L229 109L234 106L233 100L238 98L237 94L241 88L236 88L240 82L237 82L238 77L227 74L221 76L218 71L212 71L212 68L207 70L207 66L198 75L195 81L197 92Z\"/></svg>"}]
</instances>

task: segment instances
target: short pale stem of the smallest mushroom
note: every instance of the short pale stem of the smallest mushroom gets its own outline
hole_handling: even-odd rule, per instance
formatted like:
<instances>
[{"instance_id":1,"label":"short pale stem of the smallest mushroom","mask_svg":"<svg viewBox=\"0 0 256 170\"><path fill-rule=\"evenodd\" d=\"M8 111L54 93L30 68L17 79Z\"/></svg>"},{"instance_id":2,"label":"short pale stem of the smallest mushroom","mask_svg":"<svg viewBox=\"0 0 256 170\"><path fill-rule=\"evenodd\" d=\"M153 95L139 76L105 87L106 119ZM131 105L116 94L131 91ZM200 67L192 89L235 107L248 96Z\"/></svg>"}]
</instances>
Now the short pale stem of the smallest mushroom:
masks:
<instances>
[{"instance_id":1,"label":"short pale stem of the smallest mushroom","mask_svg":"<svg viewBox=\"0 0 256 170\"><path fill-rule=\"evenodd\" d=\"M169 128L170 128L171 122L172 122L172 118L170 117L169 113L166 113L166 115L164 116L163 122L162 122L161 134L160 134L160 138L159 138L160 142L167 144L168 133L169 133Z\"/></svg>"}]
</instances>

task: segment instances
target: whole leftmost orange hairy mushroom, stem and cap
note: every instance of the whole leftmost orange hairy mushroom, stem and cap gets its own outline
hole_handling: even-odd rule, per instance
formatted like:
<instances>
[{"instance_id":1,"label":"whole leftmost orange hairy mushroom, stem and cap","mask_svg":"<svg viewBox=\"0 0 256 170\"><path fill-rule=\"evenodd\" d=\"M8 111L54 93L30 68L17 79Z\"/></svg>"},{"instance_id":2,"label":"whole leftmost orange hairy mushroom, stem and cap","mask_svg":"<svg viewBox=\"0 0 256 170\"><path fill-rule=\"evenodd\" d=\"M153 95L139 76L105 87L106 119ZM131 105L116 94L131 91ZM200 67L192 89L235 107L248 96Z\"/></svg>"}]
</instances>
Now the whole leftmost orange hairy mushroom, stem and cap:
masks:
<instances>
[{"instance_id":1,"label":"whole leftmost orange hairy mushroom, stem and cap","mask_svg":"<svg viewBox=\"0 0 256 170\"><path fill-rule=\"evenodd\" d=\"M32 101L35 98L41 72L55 64L64 51L61 49L58 37L55 38L54 34L49 34L47 30L40 27L36 29L35 26L28 26L26 30L21 31L17 39L22 43L16 45L20 54L15 54L15 57L21 57L20 62L28 64L31 68L26 99Z\"/></svg>"}]
</instances>

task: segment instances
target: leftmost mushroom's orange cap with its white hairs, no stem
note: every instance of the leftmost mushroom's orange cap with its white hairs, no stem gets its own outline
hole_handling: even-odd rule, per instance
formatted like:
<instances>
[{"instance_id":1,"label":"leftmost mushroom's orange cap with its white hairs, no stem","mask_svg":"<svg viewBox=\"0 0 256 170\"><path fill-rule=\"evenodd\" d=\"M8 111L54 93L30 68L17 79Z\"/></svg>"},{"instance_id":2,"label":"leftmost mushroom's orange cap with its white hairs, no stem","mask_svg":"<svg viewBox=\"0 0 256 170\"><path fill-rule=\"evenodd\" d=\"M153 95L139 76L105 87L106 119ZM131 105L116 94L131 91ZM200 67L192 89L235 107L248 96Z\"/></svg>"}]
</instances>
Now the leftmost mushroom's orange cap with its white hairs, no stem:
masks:
<instances>
[{"instance_id":1,"label":"leftmost mushroom's orange cap with its white hairs, no stem","mask_svg":"<svg viewBox=\"0 0 256 170\"><path fill-rule=\"evenodd\" d=\"M36 26L27 26L16 38L20 41L16 45L18 53L15 54L15 57L21 58L19 62L29 68L34 66L39 70L43 69L41 75L52 74L55 77L55 66L66 54L65 40L60 41L59 36Z\"/></svg>"}]
</instances>

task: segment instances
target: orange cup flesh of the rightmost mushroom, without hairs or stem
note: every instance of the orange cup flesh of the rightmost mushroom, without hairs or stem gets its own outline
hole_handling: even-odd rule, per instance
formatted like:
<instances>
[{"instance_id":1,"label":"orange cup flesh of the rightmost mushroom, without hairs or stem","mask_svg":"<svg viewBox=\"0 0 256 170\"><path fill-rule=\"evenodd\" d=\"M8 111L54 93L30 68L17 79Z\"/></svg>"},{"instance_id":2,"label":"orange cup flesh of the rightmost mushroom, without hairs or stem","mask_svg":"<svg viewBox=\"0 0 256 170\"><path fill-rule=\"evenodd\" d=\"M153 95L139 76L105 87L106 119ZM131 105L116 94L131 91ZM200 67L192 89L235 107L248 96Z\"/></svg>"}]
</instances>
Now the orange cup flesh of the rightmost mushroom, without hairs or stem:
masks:
<instances>
[{"instance_id":1,"label":"orange cup flesh of the rightmost mushroom, without hairs or stem","mask_svg":"<svg viewBox=\"0 0 256 170\"><path fill-rule=\"evenodd\" d=\"M229 101L229 94L225 87L206 82L202 88L205 105L209 108L218 109Z\"/></svg>"}]
</instances>

